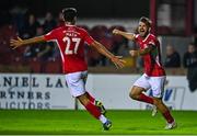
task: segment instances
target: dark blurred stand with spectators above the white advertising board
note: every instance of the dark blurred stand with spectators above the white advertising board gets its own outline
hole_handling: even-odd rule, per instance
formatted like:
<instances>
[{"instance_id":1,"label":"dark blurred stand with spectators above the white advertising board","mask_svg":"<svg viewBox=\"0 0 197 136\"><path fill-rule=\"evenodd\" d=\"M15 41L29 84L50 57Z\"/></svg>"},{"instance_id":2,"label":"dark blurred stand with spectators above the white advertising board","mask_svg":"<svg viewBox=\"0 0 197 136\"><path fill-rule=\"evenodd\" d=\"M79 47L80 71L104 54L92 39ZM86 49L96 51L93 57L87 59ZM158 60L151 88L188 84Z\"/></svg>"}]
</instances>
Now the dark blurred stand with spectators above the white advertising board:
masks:
<instances>
[{"instance_id":1,"label":"dark blurred stand with spectators above the white advertising board","mask_svg":"<svg viewBox=\"0 0 197 136\"><path fill-rule=\"evenodd\" d=\"M137 45L112 35L112 31L117 27L135 32L140 16L152 20L152 33L161 42L163 65L166 68L179 68L181 73L186 75L185 68L188 66L185 64L185 54L189 50L189 45L194 45L196 57L197 0L1 0L1 72L61 72L56 44L44 43L12 50L10 38L30 38L63 25L60 12L67 7L78 10L79 26L85 29L112 53L124 56L129 70L143 67L140 58L131 58L128 54ZM112 66L105 57L88 47L85 53L92 71L96 71L95 67ZM194 60L196 63L196 58ZM174 65L173 61L177 64ZM50 69L47 69L47 65Z\"/></svg>"}]
</instances>

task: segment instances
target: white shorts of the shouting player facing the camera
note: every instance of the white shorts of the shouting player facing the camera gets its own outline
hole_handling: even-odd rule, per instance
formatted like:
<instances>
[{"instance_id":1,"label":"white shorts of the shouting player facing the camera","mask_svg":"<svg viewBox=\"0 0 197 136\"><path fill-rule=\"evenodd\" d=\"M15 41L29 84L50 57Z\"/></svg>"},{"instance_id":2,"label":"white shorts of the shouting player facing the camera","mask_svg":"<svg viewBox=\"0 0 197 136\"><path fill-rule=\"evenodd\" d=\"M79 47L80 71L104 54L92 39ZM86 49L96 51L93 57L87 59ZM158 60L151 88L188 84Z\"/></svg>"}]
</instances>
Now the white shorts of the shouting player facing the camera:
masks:
<instances>
[{"instance_id":1,"label":"white shorts of the shouting player facing the camera","mask_svg":"<svg viewBox=\"0 0 197 136\"><path fill-rule=\"evenodd\" d=\"M143 88L146 90L151 89L154 98L162 98L164 91L165 76L162 77L149 77L143 73L134 86Z\"/></svg>"}]
</instances>

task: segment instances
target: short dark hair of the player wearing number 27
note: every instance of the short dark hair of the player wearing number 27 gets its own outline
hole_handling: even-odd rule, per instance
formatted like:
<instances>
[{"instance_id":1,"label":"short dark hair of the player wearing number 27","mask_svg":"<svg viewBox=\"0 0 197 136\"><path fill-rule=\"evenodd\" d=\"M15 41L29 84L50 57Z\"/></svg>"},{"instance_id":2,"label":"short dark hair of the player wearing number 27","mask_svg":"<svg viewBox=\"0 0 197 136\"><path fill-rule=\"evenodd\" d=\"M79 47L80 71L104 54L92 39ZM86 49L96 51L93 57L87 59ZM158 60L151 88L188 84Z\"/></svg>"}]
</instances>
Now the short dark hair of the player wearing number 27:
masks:
<instances>
[{"instance_id":1,"label":"short dark hair of the player wearing number 27","mask_svg":"<svg viewBox=\"0 0 197 136\"><path fill-rule=\"evenodd\" d=\"M72 22L77 16L77 10L74 8L65 8L62 14L65 21Z\"/></svg>"}]
</instances>

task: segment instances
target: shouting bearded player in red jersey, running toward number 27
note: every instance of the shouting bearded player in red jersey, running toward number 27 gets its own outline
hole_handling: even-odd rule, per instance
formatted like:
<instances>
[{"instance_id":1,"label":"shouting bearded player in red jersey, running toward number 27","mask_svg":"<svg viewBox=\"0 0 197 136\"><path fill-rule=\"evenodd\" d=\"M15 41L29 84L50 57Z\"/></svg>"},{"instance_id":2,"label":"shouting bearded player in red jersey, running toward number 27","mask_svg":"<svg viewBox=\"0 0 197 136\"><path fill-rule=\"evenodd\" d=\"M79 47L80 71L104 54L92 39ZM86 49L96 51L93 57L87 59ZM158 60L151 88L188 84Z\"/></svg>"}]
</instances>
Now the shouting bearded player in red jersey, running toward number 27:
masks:
<instances>
[{"instance_id":1,"label":"shouting bearded player in red jersey, running toward number 27","mask_svg":"<svg viewBox=\"0 0 197 136\"><path fill-rule=\"evenodd\" d=\"M150 33L150 30L151 21L148 18L142 16L139 20L137 29L139 34L127 33L116 29L113 31L113 34L121 35L137 43L139 49L130 50L129 53L132 57L142 56L143 59L144 73L134 83L129 93L130 98L155 105L157 110L162 113L167 122L165 129L172 129L176 126L175 120L162 101L165 70L161 64L160 42ZM148 89L153 91L152 98L142 93Z\"/></svg>"}]
</instances>

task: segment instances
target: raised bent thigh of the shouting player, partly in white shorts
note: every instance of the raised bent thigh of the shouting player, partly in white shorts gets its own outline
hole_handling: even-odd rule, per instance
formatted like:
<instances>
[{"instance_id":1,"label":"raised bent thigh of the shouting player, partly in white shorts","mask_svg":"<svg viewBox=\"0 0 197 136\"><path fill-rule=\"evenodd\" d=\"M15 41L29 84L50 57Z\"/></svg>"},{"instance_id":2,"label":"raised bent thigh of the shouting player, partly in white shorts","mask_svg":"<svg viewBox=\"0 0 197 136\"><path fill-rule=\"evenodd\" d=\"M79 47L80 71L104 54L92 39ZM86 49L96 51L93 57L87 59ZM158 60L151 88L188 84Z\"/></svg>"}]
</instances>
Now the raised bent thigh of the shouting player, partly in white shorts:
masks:
<instances>
[{"instance_id":1,"label":"raised bent thigh of the shouting player, partly in white shorts","mask_svg":"<svg viewBox=\"0 0 197 136\"><path fill-rule=\"evenodd\" d=\"M131 88L130 94L140 94L142 91L150 89L151 86L148 80L149 79L146 75L142 75L139 79L137 79Z\"/></svg>"}]
</instances>

